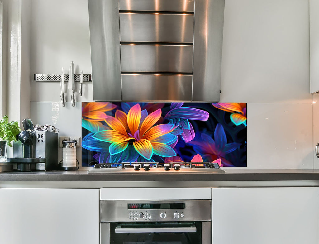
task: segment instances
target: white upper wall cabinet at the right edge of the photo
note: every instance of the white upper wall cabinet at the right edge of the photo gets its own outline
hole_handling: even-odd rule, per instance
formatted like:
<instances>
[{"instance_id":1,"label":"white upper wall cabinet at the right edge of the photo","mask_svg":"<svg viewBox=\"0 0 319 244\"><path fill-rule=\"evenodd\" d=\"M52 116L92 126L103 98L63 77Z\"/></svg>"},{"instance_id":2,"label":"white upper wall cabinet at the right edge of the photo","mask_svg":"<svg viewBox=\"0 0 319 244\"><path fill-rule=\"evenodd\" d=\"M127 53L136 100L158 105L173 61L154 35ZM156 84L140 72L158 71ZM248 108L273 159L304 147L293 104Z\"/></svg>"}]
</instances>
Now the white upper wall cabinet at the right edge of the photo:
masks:
<instances>
[{"instance_id":1,"label":"white upper wall cabinet at the right edge of the photo","mask_svg":"<svg viewBox=\"0 0 319 244\"><path fill-rule=\"evenodd\" d=\"M319 92L319 0L309 0L310 93Z\"/></svg>"}]
</instances>

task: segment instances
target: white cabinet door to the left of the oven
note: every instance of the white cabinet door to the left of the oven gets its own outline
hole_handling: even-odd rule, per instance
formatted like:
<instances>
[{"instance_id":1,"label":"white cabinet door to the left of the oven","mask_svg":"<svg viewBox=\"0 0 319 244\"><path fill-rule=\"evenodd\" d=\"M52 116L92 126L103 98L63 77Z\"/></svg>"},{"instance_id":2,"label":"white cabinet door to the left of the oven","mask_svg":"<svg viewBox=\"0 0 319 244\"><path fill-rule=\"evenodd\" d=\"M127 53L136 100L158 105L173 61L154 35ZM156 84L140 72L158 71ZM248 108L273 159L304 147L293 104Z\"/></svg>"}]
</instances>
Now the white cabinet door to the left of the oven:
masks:
<instances>
[{"instance_id":1,"label":"white cabinet door to the left of the oven","mask_svg":"<svg viewBox=\"0 0 319 244\"><path fill-rule=\"evenodd\" d=\"M0 189L0 243L98 244L99 189Z\"/></svg>"}]
</instances>

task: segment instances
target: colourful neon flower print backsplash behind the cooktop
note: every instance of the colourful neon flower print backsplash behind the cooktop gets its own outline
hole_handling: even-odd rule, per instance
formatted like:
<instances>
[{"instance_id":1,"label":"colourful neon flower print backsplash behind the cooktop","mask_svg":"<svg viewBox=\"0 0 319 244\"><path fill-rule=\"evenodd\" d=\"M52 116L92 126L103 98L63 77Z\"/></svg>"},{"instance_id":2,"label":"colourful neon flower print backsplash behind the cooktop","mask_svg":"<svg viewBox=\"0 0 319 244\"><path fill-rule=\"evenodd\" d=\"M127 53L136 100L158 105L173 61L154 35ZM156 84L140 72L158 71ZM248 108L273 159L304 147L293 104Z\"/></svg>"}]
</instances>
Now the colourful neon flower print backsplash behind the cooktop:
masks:
<instances>
[{"instance_id":1,"label":"colourful neon flower print backsplash behind the cooktop","mask_svg":"<svg viewBox=\"0 0 319 244\"><path fill-rule=\"evenodd\" d=\"M218 162L247 166L246 103L83 102L82 166Z\"/></svg>"}]
</instances>

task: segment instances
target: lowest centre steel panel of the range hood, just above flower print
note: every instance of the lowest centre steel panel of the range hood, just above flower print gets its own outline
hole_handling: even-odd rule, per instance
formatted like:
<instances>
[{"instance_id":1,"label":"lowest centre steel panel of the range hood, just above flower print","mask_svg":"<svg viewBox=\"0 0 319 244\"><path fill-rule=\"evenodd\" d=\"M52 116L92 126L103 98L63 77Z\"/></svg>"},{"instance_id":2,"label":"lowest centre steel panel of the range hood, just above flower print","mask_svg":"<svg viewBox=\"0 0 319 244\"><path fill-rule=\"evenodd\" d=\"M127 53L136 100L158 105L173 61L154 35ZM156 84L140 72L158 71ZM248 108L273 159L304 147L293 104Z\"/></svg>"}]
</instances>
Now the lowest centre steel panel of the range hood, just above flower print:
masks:
<instances>
[{"instance_id":1,"label":"lowest centre steel panel of the range hood, just above flower print","mask_svg":"<svg viewBox=\"0 0 319 244\"><path fill-rule=\"evenodd\" d=\"M122 75L124 101L192 100L191 75Z\"/></svg>"}]
</instances>

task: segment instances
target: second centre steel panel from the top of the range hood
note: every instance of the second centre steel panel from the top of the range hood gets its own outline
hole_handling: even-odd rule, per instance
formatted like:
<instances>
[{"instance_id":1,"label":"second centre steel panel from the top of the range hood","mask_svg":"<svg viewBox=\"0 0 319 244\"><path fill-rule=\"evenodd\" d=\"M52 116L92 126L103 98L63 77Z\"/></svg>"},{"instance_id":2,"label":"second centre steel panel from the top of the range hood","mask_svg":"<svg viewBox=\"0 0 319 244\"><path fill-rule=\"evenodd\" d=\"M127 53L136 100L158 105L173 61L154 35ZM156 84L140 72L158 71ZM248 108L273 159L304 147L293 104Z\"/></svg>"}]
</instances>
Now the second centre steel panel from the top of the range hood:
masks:
<instances>
[{"instance_id":1,"label":"second centre steel panel from the top of the range hood","mask_svg":"<svg viewBox=\"0 0 319 244\"><path fill-rule=\"evenodd\" d=\"M120 13L120 41L193 42L194 15Z\"/></svg>"}]
</instances>

